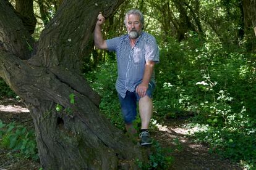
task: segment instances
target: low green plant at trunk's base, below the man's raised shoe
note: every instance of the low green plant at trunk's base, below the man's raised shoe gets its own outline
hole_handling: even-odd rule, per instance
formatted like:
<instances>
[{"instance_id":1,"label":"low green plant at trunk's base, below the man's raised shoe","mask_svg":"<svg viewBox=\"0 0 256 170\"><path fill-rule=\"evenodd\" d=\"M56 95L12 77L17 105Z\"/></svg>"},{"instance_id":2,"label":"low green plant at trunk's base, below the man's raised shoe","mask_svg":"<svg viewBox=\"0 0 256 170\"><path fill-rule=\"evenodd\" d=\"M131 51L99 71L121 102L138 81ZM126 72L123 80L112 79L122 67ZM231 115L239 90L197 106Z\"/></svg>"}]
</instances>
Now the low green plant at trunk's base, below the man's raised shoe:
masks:
<instances>
[{"instance_id":1,"label":"low green plant at trunk's base, below the man's raised shoe","mask_svg":"<svg viewBox=\"0 0 256 170\"><path fill-rule=\"evenodd\" d=\"M172 150L169 148L162 148L158 142L153 142L151 146L151 153L148 156L148 162L143 163L139 159L136 160L141 169L168 169L173 163L173 157L168 156Z\"/></svg>"}]
</instances>

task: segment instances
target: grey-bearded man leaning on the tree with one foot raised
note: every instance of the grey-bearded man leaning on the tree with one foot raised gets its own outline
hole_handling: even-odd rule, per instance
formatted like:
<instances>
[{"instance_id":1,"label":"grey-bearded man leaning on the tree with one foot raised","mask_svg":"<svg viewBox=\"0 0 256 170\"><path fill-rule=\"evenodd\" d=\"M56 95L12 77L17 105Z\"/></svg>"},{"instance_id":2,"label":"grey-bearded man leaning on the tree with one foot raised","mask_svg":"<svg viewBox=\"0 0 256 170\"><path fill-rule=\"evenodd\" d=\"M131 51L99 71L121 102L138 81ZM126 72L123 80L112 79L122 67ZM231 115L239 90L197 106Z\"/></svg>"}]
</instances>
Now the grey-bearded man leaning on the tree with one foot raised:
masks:
<instances>
[{"instance_id":1,"label":"grey-bearded man leaning on the tree with one foot raised","mask_svg":"<svg viewBox=\"0 0 256 170\"><path fill-rule=\"evenodd\" d=\"M137 133L133 121L137 115L139 102L142 127L140 144L151 145L153 140L148 134L148 126L153 113L152 92L155 87L154 65L159 62L159 50L156 39L151 34L142 31L144 17L142 12L132 9L127 12L124 24L127 34L105 40L101 26L105 22L103 15L98 15L95 25L94 41L99 49L115 51L117 56L118 77L116 90L121 103L122 115L126 130Z\"/></svg>"}]
</instances>

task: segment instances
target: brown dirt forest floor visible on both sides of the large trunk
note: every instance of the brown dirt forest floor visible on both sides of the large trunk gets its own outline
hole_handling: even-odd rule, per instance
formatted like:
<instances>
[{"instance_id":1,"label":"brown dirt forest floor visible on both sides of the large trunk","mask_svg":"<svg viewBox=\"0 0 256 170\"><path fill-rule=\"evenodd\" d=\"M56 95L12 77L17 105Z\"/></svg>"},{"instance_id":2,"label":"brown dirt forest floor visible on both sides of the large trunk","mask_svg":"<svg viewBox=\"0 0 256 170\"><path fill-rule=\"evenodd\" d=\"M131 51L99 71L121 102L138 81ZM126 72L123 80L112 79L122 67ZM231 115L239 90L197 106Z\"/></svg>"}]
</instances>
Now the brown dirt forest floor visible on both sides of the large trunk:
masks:
<instances>
[{"instance_id":1,"label":"brown dirt forest floor visible on both sides of the large trunk","mask_svg":"<svg viewBox=\"0 0 256 170\"><path fill-rule=\"evenodd\" d=\"M33 121L25 105L15 99L0 100L0 119L4 123L16 121L28 128L33 128ZM168 119L158 124L158 130L152 132L162 148L173 148L174 157L170 169L242 169L239 165L209 153L207 145L196 144L187 136L195 129L188 128L185 118ZM176 142L175 142L176 141ZM39 169L38 161L28 160L9 154L9 150L0 148L0 170L4 169Z\"/></svg>"}]
</instances>

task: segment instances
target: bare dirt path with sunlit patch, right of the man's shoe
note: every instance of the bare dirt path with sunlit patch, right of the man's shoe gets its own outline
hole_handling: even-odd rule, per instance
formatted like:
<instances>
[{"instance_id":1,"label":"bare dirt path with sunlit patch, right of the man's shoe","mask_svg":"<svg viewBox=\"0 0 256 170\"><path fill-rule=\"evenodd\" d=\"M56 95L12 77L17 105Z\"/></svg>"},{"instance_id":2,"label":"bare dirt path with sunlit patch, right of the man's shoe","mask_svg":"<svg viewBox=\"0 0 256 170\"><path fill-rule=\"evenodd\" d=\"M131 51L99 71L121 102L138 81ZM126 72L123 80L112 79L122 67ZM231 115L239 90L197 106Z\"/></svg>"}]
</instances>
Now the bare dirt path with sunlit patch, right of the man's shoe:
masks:
<instances>
[{"instance_id":1,"label":"bare dirt path with sunlit patch, right of the man's shoe","mask_svg":"<svg viewBox=\"0 0 256 170\"><path fill-rule=\"evenodd\" d=\"M159 131L153 134L162 147L176 148L171 154L174 156L171 169L242 169L229 160L210 154L207 146L192 142L187 135L196 129L188 129L184 126L186 124L186 119L168 120L164 126L158 125Z\"/></svg>"}]
</instances>

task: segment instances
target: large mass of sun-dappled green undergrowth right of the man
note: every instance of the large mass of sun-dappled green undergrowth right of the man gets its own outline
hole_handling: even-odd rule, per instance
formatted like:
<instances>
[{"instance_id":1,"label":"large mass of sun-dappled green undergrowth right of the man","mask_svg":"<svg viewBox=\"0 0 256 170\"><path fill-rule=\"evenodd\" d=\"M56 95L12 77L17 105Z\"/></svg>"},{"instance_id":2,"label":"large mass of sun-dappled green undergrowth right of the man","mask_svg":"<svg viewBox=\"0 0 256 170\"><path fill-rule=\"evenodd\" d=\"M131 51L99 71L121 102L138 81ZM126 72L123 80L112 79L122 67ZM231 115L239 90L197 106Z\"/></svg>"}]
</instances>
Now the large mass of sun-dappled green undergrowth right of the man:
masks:
<instances>
[{"instance_id":1,"label":"large mass of sun-dappled green undergrowth right of the man","mask_svg":"<svg viewBox=\"0 0 256 170\"><path fill-rule=\"evenodd\" d=\"M182 42L169 38L160 44L156 115L175 118L193 113L195 123L209 127L195 135L197 141L252 168L256 153L255 62L244 48L225 46L210 37L202 41L194 33L188 37Z\"/></svg>"}]
</instances>

